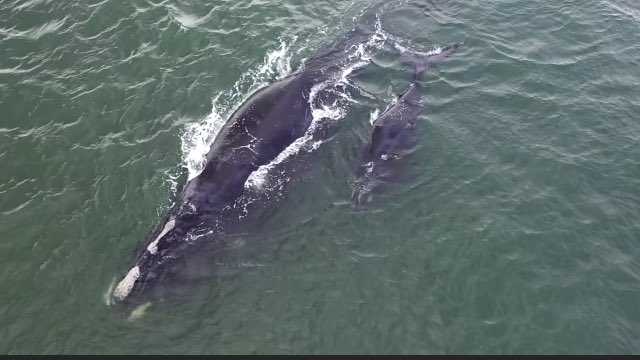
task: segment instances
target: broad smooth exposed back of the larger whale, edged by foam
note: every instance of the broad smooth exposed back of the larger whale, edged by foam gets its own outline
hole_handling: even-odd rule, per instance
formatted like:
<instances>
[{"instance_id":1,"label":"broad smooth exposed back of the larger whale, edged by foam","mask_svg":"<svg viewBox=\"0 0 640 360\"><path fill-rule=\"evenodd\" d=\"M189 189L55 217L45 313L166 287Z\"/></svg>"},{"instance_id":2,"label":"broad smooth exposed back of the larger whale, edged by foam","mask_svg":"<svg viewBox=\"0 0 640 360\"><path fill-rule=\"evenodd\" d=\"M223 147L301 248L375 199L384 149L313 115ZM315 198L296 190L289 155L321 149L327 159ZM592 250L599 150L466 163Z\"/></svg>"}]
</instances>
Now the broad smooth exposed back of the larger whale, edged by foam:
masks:
<instances>
[{"instance_id":1,"label":"broad smooth exposed back of the larger whale, edged by foam","mask_svg":"<svg viewBox=\"0 0 640 360\"><path fill-rule=\"evenodd\" d=\"M214 140L203 171L185 186L186 202L206 212L240 196L249 175L308 128L310 87L295 74L256 91Z\"/></svg>"}]
</instances>

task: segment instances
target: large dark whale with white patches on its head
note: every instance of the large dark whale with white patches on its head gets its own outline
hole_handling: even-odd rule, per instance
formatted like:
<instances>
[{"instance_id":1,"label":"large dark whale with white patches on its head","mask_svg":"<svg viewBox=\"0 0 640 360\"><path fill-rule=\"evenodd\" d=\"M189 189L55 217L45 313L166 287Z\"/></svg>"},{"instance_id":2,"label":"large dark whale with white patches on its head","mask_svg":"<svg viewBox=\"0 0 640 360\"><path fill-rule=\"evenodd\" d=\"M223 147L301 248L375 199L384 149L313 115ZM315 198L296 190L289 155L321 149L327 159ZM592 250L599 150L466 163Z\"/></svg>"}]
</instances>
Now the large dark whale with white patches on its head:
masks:
<instances>
[{"instance_id":1,"label":"large dark whale with white patches on its head","mask_svg":"<svg viewBox=\"0 0 640 360\"><path fill-rule=\"evenodd\" d=\"M372 35L366 26L357 26L307 60L301 71L256 91L231 115L212 143L202 172L186 183L176 205L150 233L115 287L116 300L149 288L187 249L215 239L228 223L237 221L229 209L245 191L249 176L307 133L313 101L331 104L343 98L341 87L331 84L339 83L344 69L362 63L358 49L366 47Z\"/></svg>"}]
</instances>

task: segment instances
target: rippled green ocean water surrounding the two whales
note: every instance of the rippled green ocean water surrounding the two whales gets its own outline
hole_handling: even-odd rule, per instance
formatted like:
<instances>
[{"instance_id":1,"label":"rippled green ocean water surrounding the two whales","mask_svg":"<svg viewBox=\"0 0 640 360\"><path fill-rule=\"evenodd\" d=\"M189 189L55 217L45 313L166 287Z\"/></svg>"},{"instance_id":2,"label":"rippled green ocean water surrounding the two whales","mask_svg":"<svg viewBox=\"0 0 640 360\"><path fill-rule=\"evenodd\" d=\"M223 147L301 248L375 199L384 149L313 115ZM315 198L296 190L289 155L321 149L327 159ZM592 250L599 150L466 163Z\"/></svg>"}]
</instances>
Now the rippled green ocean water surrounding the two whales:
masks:
<instances>
[{"instance_id":1,"label":"rippled green ocean water surrounding the two whales","mask_svg":"<svg viewBox=\"0 0 640 360\"><path fill-rule=\"evenodd\" d=\"M227 116L368 9L464 42L406 179L349 205L386 46L213 273L113 304ZM639 32L632 0L0 1L0 353L640 352Z\"/></svg>"}]
</instances>

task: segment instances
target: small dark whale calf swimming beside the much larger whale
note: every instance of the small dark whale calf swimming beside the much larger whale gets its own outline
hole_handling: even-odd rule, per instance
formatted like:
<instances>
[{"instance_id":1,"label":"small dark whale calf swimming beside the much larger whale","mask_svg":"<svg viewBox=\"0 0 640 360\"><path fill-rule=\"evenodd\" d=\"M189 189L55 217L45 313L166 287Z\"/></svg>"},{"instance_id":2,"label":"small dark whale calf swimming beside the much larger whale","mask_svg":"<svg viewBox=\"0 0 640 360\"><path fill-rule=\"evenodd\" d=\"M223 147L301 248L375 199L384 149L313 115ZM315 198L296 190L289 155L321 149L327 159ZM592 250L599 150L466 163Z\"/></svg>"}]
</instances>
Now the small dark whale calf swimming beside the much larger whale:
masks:
<instances>
[{"instance_id":1,"label":"small dark whale calf swimming beside the much larger whale","mask_svg":"<svg viewBox=\"0 0 640 360\"><path fill-rule=\"evenodd\" d=\"M410 154L417 143L416 120L424 109L420 77L433 64L455 52L461 44L454 44L426 54L403 50L402 61L414 66L409 88L373 122L369 142L364 147L352 201L356 206L371 200L371 194L381 185L397 176L402 159Z\"/></svg>"}]
</instances>

